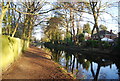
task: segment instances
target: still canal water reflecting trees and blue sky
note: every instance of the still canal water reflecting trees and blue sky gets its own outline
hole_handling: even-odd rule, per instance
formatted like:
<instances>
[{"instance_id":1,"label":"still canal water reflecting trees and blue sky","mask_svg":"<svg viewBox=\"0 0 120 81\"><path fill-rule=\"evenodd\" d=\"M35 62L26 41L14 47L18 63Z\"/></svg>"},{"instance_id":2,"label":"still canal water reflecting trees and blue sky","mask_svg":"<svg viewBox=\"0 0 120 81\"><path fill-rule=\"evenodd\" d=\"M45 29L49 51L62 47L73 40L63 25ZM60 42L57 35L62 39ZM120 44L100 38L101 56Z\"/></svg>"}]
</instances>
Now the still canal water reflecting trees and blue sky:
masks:
<instances>
[{"instance_id":1,"label":"still canal water reflecting trees and blue sky","mask_svg":"<svg viewBox=\"0 0 120 81\"><path fill-rule=\"evenodd\" d=\"M120 79L120 63L117 57L51 48L49 50L52 52L52 59L77 79Z\"/></svg>"}]
</instances>

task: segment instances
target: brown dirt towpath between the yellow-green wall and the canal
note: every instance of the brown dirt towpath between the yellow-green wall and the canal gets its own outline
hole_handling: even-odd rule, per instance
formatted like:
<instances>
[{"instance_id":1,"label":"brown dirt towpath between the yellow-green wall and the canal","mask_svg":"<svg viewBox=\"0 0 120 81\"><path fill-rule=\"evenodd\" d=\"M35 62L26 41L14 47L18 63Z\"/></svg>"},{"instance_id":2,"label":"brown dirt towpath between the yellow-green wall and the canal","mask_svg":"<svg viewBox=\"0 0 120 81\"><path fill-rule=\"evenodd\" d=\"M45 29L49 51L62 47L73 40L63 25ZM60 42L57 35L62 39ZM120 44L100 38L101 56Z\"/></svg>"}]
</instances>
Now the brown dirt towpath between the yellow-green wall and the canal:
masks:
<instances>
[{"instance_id":1,"label":"brown dirt towpath between the yellow-green wall and the canal","mask_svg":"<svg viewBox=\"0 0 120 81\"><path fill-rule=\"evenodd\" d=\"M3 79L73 79L64 72L50 55L39 48L30 47L3 74Z\"/></svg>"}]
</instances>

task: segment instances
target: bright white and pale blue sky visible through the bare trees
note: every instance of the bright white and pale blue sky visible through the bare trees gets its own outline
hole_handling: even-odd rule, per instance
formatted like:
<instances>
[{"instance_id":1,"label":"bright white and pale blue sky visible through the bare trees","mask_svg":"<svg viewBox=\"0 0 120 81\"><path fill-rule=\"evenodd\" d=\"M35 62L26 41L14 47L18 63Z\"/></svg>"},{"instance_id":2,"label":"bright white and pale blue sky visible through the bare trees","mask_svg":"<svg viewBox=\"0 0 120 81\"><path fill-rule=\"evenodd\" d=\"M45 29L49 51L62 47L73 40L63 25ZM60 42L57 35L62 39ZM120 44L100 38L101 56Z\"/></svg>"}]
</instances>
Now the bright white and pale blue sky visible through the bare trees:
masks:
<instances>
[{"instance_id":1,"label":"bright white and pale blue sky visible through the bare trees","mask_svg":"<svg viewBox=\"0 0 120 81\"><path fill-rule=\"evenodd\" d=\"M6 0L5 0L6 1ZM18 1L25 1L25 0L14 0L14 2L18 2ZM31 0L30 0L31 1ZM36 1L40 1L40 0L36 0ZM56 2L57 0L47 0L47 2ZM66 1L66 0L58 0L58 1ZM68 0L68 1L70 1L70 0ZM74 1L74 0L72 0L72 1ZM75 0L75 1L81 1L81 0ZM117 2L117 1L119 1L119 0L102 0L103 2L109 2L109 3L111 3L111 2ZM116 4L116 6L118 6L117 4ZM44 9L46 8L46 9L49 9L51 6L50 5L47 5L47 6L45 6L44 7ZM110 12L114 17L116 17L116 19L118 19L118 7L114 7L114 8L110 8L110 9L107 9L107 11L108 12ZM48 15L52 15L51 13L49 13ZM86 14L86 13L84 13L84 15L83 15L84 17L89 17L90 18L90 20L93 20L93 17L92 16L90 16L89 14ZM102 14L101 15L101 18L104 18L104 20L106 21L106 22L101 22L101 21L99 21L99 25L100 24L103 24L103 25L105 25L105 26L107 26L107 28L108 28L108 30L113 30L113 32L114 33L117 33L118 32L118 21L115 21L110 15L108 15L108 14ZM86 19L84 19L84 20L86 20ZM94 22L94 21L93 21ZM83 25L83 24L86 24L87 22L81 22L81 24ZM93 25L91 24L91 28L93 27ZM36 30L36 34L34 35L37 39L41 39L41 37L42 37L42 30L41 30L41 28L39 28L39 29L37 29Z\"/></svg>"}]
</instances>

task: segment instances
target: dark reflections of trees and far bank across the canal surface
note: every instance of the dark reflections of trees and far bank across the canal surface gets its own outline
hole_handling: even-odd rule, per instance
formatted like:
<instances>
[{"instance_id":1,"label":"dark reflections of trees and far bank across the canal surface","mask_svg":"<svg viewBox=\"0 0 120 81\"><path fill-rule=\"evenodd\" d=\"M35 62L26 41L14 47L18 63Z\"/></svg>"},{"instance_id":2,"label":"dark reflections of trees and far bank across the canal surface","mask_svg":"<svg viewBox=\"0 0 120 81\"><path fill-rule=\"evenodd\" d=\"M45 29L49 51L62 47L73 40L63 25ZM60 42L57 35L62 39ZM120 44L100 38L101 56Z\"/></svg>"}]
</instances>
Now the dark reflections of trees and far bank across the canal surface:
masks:
<instances>
[{"instance_id":1,"label":"dark reflections of trees and far bank across the canal surface","mask_svg":"<svg viewBox=\"0 0 120 81\"><path fill-rule=\"evenodd\" d=\"M51 50L53 53L53 57L54 60L56 62L60 62L60 58L63 54L63 52L65 53L64 58L65 58L65 68L67 70L69 70L72 73L75 73L75 75L78 74L79 72L79 68L81 68L80 65L82 65L83 69L86 69L88 71L88 69L90 68L90 71L92 73L92 76L94 78L94 80L98 79L99 76L99 72L100 72L100 68L102 66L108 66L111 65L113 63L116 64L117 68L118 68L118 74L120 77L120 63L119 63L119 59L115 59L115 58L110 58L108 56L98 56L98 55L83 55L80 53L76 53L76 52L71 52L69 50L67 51L60 51L60 50ZM76 61L76 64L75 64ZM111 62L113 61L113 62ZM93 63L97 63L97 69L93 68Z\"/></svg>"}]
</instances>

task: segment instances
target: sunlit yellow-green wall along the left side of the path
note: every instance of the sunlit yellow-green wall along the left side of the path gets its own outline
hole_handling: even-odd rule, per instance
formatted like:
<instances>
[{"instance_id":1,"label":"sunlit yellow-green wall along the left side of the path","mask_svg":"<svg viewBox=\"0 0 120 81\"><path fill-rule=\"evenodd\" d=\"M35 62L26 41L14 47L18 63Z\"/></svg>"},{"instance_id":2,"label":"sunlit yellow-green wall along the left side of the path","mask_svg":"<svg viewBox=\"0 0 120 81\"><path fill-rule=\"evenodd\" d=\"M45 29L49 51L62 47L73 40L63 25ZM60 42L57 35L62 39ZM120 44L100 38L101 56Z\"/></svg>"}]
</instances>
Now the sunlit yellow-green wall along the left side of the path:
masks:
<instances>
[{"instance_id":1,"label":"sunlit yellow-green wall along the left side of the path","mask_svg":"<svg viewBox=\"0 0 120 81\"><path fill-rule=\"evenodd\" d=\"M0 40L2 43L0 50L0 59L2 59L2 62L0 62L0 65L4 71L11 63L19 58L23 50L27 49L29 42L8 36L2 36Z\"/></svg>"}]
</instances>

